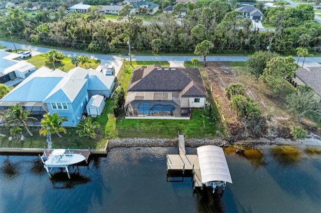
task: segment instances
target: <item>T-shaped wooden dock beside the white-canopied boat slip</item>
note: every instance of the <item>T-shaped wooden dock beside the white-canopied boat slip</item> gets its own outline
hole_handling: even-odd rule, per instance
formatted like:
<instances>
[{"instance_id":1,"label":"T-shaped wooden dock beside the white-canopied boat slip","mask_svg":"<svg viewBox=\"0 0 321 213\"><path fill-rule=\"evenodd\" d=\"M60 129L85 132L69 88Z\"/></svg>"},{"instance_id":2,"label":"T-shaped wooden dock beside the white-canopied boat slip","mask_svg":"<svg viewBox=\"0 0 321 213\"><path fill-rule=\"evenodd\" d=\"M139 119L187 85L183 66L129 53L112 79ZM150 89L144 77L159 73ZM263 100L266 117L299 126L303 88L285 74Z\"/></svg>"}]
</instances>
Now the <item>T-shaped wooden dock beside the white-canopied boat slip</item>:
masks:
<instances>
[{"instance_id":1,"label":"T-shaped wooden dock beside the white-canopied boat slip","mask_svg":"<svg viewBox=\"0 0 321 213\"><path fill-rule=\"evenodd\" d=\"M179 134L179 154L167 154L166 167L169 170L192 170L193 186L202 187L202 177L200 170L199 157L196 154L186 154L184 135Z\"/></svg>"}]
</instances>

